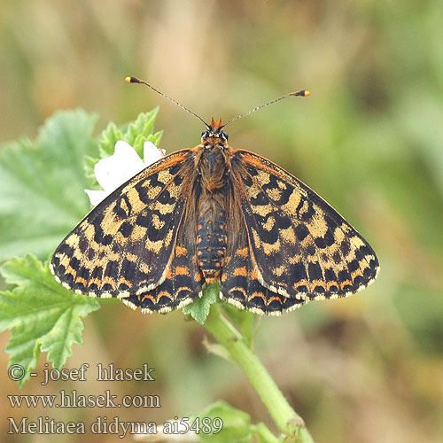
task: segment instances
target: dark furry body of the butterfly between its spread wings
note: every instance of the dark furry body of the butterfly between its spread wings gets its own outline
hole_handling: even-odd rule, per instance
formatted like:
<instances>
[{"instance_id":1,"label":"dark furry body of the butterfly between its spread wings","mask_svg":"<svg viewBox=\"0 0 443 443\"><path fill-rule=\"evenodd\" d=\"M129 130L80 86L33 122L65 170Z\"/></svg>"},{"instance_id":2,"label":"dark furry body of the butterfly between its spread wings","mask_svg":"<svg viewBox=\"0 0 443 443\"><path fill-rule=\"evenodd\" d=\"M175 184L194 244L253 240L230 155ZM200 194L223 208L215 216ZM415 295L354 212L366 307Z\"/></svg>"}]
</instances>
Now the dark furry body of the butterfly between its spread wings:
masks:
<instances>
[{"instance_id":1,"label":"dark furry body of the butterfly between its spread wings","mask_svg":"<svg viewBox=\"0 0 443 443\"><path fill-rule=\"evenodd\" d=\"M214 283L218 278L226 256L229 151L224 138L210 134L203 138L196 152L198 266L208 283Z\"/></svg>"}]
</instances>

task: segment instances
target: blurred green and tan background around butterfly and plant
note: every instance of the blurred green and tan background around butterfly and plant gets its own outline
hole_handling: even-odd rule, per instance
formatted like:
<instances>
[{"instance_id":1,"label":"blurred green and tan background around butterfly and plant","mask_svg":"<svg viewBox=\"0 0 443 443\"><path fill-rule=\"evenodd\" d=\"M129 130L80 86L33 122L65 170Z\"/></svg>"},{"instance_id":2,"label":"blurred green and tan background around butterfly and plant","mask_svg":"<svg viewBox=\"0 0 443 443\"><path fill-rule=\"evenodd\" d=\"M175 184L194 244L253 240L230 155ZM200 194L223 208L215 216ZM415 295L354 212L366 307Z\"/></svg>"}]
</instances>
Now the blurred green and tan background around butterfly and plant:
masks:
<instances>
[{"instance_id":1,"label":"blurred green and tan background around butterfly and plant","mask_svg":"<svg viewBox=\"0 0 443 443\"><path fill-rule=\"evenodd\" d=\"M232 124L229 142L272 159L326 198L369 240L381 273L353 298L262 319L257 353L317 443L443 441L441 1L3 0L0 8L2 142L34 138L59 109L99 113L99 132L109 120L122 124L159 105L161 147L198 144L197 119L123 82L126 75L204 120L310 89L311 97ZM157 422L221 398L272 426L245 377L206 353L205 330L181 312L146 316L113 304L85 323L84 345L74 346L67 367L147 361L155 384L104 388L91 377L43 388L33 379L21 393L157 393L159 410L118 411L122 420ZM2 348L8 337L0 337ZM0 364L5 374L7 355ZM115 415L12 409L6 394L14 392L5 379L4 417ZM7 439L6 431L2 418L2 441L48 439Z\"/></svg>"}]
</instances>

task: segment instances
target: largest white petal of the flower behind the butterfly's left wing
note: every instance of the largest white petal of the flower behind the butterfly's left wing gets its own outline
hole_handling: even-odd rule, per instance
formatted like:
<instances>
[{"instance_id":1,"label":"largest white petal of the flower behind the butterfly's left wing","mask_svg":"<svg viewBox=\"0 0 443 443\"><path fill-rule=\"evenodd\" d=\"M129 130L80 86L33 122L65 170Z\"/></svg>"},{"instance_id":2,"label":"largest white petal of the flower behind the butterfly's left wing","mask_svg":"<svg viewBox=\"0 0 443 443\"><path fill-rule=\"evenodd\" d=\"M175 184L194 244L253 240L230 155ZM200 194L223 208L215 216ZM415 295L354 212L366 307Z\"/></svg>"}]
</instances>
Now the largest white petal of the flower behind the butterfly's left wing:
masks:
<instances>
[{"instance_id":1,"label":"largest white petal of the flower behind the butterfly's left wing","mask_svg":"<svg viewBox=\"0 0 443 443\"><path fill-rule=\"evenodd\" d=\"M112 192L120 184L144 169L144 162L136 150L128 143L118 141L115 144L111 157L101 159L94 167L98 184L107 191Z\"/></svg>"}]
</instances>

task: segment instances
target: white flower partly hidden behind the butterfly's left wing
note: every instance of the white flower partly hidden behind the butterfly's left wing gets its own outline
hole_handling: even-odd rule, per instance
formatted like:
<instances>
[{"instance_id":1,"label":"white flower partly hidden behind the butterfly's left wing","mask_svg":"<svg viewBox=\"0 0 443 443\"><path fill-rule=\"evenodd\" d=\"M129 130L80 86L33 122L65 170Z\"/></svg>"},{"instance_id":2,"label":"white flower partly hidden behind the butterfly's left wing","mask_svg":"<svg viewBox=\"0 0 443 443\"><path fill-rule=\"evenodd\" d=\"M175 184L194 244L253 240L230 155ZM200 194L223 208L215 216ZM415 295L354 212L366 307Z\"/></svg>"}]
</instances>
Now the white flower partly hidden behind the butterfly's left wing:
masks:
<instances>
[{"instance_id":1,"label":"white flower partly hidden behind the butterfly's left wing","mask_svg":"<svg viewBox=\"0 0 443 443\"><path fill-rule=\"evenodd\" d=\"M117 142L113 155L101 159L94 167L97 182L103 190L84 190L88 194L91 205L97 206L120 184L127 182L145 167L164 157L165 153L164 149L159 149L152 142L144 142L144 160L142 160L130 144L122 140Z\"/></svg>"}]
</instances>

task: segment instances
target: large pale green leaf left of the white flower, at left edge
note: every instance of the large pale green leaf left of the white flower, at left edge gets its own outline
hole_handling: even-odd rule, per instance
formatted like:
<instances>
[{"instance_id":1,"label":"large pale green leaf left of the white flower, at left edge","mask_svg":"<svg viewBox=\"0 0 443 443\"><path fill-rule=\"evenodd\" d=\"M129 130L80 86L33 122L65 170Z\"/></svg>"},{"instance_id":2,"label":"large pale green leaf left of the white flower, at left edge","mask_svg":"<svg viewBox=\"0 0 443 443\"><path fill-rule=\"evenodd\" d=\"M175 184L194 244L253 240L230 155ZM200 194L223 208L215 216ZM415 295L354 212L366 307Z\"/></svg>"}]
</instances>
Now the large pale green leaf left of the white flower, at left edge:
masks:
<instances>
[{"instance_id":1,"label":"large pale green leaf left of the white flower, at left edge","mask_svg":"<svg viewBox=\"0 0 443 443\"><path fill-rule=\"evenodd\" d=\"M97 117L54 114L36 141L22 139L0 152L0 260L24 253L47 257L89 210L85 154L97 156Z\"/></svg>"}]
</instances>

